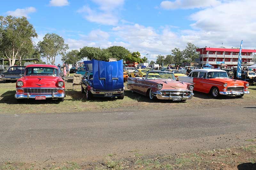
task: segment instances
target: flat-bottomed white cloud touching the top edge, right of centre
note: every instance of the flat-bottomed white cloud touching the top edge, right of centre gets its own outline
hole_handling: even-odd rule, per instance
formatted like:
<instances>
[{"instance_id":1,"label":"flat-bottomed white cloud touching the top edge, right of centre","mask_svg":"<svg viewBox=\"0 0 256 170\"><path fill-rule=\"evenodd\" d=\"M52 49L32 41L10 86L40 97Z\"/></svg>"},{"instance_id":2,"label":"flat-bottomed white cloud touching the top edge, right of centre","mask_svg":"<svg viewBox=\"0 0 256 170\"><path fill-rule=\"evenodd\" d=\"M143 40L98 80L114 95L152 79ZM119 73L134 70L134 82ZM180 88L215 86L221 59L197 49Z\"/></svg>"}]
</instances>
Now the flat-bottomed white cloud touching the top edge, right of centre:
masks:
<instances>
[{"instance_id":1,"label":"flat-bottomed white cloud touching the top edge, right of centre","mask_svg":"<svg viewBox=\"0 0 256 170\"><path fill-rule=\"evenodd\" d=\"M218 0L175 0L175 1L162 1L160 6L166 10L173 9L194 9L206 8L209 6L216 6L221 4Z\"/></svg>"}]
</instances>

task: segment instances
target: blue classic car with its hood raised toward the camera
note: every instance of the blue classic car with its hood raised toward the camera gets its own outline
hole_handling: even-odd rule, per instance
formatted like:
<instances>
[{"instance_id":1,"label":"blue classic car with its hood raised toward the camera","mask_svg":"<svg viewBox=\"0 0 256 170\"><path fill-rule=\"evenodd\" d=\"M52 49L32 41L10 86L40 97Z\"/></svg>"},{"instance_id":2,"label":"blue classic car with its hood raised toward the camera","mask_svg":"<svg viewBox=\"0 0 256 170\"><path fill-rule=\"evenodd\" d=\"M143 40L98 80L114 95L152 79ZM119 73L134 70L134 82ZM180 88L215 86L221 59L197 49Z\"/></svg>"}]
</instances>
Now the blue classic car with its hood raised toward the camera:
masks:
<instances>
[{"instance_id":1,"label":"blue classic car with its hood raised toward the camera","mask_svg":"<svg viewBox=\"0 0 256 170\"><path fill-rule=\"evenodd\" d=\"M104 62L84 61L86 73L82 78L81 91L86 99L92 97L117 97L124 99L123 60Z\"/></svg>"}]
</instances>

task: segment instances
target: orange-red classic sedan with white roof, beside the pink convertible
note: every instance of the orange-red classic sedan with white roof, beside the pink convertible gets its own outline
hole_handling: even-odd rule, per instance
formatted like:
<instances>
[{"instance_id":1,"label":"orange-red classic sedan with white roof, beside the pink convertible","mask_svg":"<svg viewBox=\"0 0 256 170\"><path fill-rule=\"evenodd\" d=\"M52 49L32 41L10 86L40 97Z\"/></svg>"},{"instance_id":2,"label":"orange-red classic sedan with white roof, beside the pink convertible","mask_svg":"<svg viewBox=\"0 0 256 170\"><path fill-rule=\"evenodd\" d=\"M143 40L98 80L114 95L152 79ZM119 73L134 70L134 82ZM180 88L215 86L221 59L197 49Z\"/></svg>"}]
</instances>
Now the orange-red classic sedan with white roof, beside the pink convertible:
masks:
<instances>
[{"instance_id":1,"label":"orange-red classic sedan with white roof, beside the pink convertible","mask_svg":"<svg viewBox=\"0 0 256 170\"><path fill-rule=\"evenodd\" d=\"M193 83L195 91L210 92L214 98L220 95L236 95L240 98L244 94L250 94L248 82L228 78L225 70L197 69L191 71L188 76L180 76L179 81Z\"/></svg>"}]
</instances>

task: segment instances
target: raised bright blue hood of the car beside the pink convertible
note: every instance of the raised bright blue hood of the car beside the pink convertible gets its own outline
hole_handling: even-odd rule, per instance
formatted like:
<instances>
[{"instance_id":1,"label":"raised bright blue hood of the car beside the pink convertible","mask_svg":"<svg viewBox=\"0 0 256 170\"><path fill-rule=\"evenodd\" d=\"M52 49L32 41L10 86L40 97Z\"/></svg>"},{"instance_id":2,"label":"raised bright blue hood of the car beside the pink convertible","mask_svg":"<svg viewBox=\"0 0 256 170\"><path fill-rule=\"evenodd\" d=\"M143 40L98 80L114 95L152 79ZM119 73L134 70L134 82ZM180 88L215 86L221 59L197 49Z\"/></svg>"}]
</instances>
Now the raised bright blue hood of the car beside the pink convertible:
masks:
<instances>
[{"instance_id":1,"label":"raised bright blue hood of the car beside the pink convertible","mask_svg":"<svg viewBox=\"0 0 256 170\"><path fill-rule=\"evenodd\" d=\"M93 88L115 90L124 88L123 60L105 62L92 60Z\"/></svg>"}]
</instances>

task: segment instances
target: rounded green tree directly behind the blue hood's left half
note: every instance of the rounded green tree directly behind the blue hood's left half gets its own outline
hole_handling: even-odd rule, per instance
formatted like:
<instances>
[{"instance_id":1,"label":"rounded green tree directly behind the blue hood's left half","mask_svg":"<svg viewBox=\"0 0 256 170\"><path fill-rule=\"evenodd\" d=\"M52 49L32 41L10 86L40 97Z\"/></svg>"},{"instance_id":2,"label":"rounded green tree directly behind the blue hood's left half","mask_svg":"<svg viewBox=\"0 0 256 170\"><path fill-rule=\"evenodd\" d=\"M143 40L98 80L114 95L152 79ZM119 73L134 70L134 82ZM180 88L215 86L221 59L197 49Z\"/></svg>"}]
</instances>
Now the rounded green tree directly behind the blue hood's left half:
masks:
<instances>
[{"instance_id":1,"label":"rounded green tree directly behind the blue hood's left half","mask_svg":"<svg viewBox=\"0 0 256 170\"><path fill-rule=\"evenodd\" d=\"M89 60L95 59L100 61L108 61L112 55L107 49L100 49L95 47L83 47L78 54L81 59L87 57Z\"/></svg>"}]
</instances>

